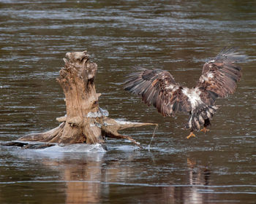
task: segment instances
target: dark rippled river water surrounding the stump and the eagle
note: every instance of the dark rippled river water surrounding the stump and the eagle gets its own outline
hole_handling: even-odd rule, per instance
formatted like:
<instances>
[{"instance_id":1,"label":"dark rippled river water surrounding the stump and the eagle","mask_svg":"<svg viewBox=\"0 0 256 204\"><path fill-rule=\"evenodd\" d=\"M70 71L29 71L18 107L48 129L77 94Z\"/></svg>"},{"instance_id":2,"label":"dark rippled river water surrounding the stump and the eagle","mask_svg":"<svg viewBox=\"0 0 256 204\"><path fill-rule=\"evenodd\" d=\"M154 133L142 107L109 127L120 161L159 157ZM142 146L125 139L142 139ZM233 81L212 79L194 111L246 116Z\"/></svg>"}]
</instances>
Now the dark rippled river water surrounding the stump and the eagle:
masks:
<instances>
[{"instance_id":1,"label":"dark rippled river water surrounding the stump and the eagle","mask_svg":"<svg viewBox=\"0 0 256 204\"><path fill-rule=\"evenodd\" d=\"M98 64L110 117L159 124L108 140L108 152L0 146L0 203L256 203L256 1L0 1L0 141L58 126L66 52ZM133 66L163 68L192 87L225 46L249 56L211 131L187 140L187 115L162 117L126 93Z\"/></svg>"}]
</instances>

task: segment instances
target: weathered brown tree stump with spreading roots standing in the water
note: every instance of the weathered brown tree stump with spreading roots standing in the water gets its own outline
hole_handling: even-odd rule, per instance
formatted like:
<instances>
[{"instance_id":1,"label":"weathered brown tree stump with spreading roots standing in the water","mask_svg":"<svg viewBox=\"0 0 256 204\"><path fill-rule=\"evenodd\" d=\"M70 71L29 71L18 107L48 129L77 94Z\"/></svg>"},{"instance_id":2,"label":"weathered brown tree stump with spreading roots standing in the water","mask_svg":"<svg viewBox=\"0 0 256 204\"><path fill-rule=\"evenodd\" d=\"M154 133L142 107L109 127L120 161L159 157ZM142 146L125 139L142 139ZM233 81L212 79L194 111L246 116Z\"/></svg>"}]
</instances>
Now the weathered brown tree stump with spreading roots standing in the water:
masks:
<instances>
[{"instance_id":1,"label":"weathered brown tree stump with spreading roots standing in the water","mask_svg":"<svg viewBox=\"0 0 256 204\"><path fill-rule=\"evenodd\" d=\"M94 86L97 64L89 61L89 55L86 51L67 52L66 57L67 59L64 58L64 68L61 68L57 81L64 90L67 114L57 118L57 121L61 122L59 127L45 133L23 136L18 141L21 143L22 141L45 142L48 144L101 144L105 137L110 137L126 138L140 146L132 137L120 135L118 130L156 124L110 119L108 111L99 107L98 101L101 94L96 93ZM15 146L18 146L17 141L15 142ZM25 148L31 148L31 146L33 144L26 144Z\"/></svg>"}]
</instances>

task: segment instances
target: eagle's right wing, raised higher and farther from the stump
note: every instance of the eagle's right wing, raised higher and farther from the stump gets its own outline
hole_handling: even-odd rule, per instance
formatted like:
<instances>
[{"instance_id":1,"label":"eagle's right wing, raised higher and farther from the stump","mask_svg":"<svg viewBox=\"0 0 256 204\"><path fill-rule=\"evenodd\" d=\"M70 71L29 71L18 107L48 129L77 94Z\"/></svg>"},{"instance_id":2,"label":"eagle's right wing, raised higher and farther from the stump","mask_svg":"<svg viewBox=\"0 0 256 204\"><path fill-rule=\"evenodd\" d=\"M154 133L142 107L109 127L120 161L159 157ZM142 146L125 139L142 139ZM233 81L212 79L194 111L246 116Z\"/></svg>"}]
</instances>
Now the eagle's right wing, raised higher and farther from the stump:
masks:
<instances>
[{"instance_id":1,"label":"eagle's right wing, raised higher and farther from the stump","mask_svg":"<svg viewBox=\"0 0 256 204\"><path fill-rule=\"evenodd\" d=\"M241 78L241 67L236 63L243 62L246 55L238 52L236 47L224 48L216 58L208 60L196 87L204 103L213 105L216 98L224 98L236 90L236 82Z\"/></svg>"}]
</instances>

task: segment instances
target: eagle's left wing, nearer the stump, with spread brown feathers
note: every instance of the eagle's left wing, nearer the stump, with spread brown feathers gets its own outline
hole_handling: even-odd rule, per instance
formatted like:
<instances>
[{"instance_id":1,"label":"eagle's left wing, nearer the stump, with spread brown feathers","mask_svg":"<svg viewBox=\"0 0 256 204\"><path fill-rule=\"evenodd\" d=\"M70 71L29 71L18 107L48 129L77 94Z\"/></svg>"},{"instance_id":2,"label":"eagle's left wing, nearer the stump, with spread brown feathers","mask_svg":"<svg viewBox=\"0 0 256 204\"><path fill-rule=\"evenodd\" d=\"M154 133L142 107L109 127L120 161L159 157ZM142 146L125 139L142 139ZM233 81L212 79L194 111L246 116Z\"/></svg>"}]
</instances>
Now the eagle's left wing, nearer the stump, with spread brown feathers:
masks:
<instances>
[{"instance_id":1,"label":"eagle's left wing, nearer the stump, with spread brown feathers","mask_svg":"<svg viewBox=\"0 0 256 204\"><path fill-rule=\"evenodd\" d=\"M175 82L168 71L136 69L138 72L127 76L124 90L141 95L144 103L156 107L163 116L191 111L191 103L182 92L183 87Z\"/></svg>"}]
</instances>

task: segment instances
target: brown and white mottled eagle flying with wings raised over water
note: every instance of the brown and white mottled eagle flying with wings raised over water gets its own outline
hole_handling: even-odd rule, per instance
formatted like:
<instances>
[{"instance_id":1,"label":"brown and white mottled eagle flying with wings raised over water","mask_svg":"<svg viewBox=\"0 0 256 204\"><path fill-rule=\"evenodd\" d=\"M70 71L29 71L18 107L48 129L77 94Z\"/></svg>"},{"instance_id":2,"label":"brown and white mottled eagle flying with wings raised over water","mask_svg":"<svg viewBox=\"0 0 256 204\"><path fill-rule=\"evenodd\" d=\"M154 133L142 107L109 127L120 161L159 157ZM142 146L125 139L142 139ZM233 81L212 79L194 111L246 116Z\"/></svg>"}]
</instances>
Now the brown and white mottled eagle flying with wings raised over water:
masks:
<instances>
[{"instance_id":1,"label":"brown and white mottled eagle flying with wings raised over water","mask_svg":"<svg viewBox=\"0 0 256 204\"><path fill-rule=\"evenodd\" d=\"M210 119L217 106L217 98L225 98L236 90L236 82L241 78L241 67L235 63L242 62L242 55L235 47L224 48L216 58L208 60L203 66L199 81L193 88L179 85L168 71L137 68L138 72L129 74L124 90L141 95L144 103L153 105L163 116L173 116L179 112L189 113L189 122L185 128L190 129L191 136L195 130L206 133Z\"/></svg>"}]
</instances>

